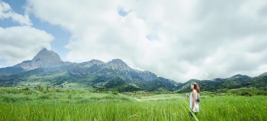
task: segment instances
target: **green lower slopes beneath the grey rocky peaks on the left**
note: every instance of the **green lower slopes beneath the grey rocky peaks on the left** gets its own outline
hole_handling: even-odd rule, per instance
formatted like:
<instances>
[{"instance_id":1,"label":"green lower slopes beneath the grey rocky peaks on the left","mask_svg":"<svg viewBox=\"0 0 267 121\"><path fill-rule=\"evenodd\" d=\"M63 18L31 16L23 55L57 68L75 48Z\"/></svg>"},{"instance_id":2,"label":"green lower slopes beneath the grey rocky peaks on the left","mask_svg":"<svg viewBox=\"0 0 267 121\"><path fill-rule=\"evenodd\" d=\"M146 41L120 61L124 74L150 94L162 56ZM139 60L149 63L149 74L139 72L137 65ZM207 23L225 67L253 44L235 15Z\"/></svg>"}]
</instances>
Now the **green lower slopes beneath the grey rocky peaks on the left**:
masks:
<instances>
[{"instance_id":1,"label":"green lower slopes beneath the grey rocky peaks on the left","mask_svg":"<svg viewBox=\"0 0 267 121\"><path fill-rule=\"evenodd\" d=\"M36 68L29 71L19 71L11 75L5 75L3 73L6 71L2 71L0 86L36 88L41 85L50 88L108 89L116 91L119 89L120 91L152 91L163 88L163 90L170 91L181 84L161 77L147 82L135 71L119 72L111 68L101 69L101 66L97 64L87 69L93 70L88 74L72 74L70 69L73 67L76 66L72 64L55 68ZM110 76L107 74L110 74Z\"/></svg>"}]
</instances>

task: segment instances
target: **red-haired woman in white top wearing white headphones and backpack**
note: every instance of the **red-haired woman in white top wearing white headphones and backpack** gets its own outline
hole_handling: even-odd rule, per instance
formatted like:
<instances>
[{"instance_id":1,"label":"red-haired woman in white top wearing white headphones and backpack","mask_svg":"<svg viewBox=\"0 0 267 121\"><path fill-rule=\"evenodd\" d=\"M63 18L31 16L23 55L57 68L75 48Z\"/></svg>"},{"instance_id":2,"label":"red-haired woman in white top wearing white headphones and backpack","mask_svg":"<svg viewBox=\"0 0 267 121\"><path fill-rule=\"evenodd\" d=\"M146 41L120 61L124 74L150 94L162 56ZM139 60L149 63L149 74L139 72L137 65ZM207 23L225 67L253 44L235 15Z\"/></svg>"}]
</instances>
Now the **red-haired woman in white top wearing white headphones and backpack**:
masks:
<instances>
[{"instance_id":1,"label":"red-haired woman in white top wearing white headphones and backpack","mask_svg":"<svg viewBox=\"0 0 267 121\"><path fill-rule=\"evenodd\" d=\"M192 83L191 84L191 89L193 90L192 93L190 94L190 96L187 94L187 96L190 98L190 104L189 107L195 112L196 115L198 115L198 111L199 111L199 106L196 103L196 99L197 99L197 93L199 94L200 89L197 83ZM194 95L194 96L192 96ZM189 112L188 114L189 116L193 117L193 115Z\"/></svg>"}]
</instances>

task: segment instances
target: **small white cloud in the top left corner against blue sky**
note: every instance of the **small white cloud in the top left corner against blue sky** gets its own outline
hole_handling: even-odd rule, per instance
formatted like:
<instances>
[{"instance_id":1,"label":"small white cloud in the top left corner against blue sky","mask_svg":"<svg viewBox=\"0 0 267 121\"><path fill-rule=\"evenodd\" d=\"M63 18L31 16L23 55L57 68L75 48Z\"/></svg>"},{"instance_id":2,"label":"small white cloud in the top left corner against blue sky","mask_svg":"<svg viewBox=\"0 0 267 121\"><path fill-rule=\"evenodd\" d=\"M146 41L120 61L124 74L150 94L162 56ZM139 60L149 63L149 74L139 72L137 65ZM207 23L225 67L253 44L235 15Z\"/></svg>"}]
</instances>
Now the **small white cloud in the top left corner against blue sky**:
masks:
<instances>
[{"instance_id":1,"label":"small white cloud in the top left corner against blue sky","mask_svg":"<svg viewBox=\"0 0 267 121\"><path fill-rule=\"evenodd\" d=\"M0 0L0 19L11 18L12 21L18 22L21 25L32 26L28 15L20 15L15 13L9 4Z\"/></svg>"}]
</instances>

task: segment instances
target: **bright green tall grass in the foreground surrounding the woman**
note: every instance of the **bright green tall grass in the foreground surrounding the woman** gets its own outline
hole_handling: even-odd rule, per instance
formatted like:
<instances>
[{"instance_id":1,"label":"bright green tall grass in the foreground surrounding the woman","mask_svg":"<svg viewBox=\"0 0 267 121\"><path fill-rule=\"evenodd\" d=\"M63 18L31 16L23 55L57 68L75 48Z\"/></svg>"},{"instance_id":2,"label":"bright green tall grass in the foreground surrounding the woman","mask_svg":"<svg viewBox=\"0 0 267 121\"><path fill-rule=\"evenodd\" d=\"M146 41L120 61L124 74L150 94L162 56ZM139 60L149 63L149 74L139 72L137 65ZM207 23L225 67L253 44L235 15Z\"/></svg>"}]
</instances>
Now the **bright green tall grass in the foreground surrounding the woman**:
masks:
<instances>
[{"instance_id":1,"label":"bright green tall grass in the foreground surrounding the woman","mask_svg":"<svg viewBox=\"0 0 267 121\"><path fill-rule=\"evenodd\" d=\"M96 96L96 95L95 95ZM79 96L77 96L79 97ZM102 98L104 98L103 96ZM80 98L78 98L80 99ZM202 121L267 120L267 96L202 99ZM176 121L189 118L189 100L159 102L19 103L1 102L0 121Z\"/></svg>"}]
</instances>

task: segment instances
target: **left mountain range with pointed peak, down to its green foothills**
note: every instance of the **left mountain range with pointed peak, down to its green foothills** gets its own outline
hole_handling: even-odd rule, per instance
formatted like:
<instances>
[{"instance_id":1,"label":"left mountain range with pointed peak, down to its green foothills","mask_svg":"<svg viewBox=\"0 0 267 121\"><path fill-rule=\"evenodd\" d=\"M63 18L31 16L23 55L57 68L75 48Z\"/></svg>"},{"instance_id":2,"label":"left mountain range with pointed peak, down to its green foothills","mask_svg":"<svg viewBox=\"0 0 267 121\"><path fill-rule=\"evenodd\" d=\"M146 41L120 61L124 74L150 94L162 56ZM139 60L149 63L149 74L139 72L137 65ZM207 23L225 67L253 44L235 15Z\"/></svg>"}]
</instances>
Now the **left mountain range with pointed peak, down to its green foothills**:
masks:
<instances>
[{"instance_id":1,"label":"left mountain range with pointed peak, down to its green foothills","mask_svg":"<svg viewBox=\"0 0 267 121\"><path fill-rule=\"evenodd\" d=\"M14 71L17 68L20 70ZM155 85L160 85L159 88L164 87L172 91L180 84L174 80L158 77L150 71L133 69L121 59L112 59L107 63L96 59L82 63L64 62L58 54L46 48L39 51L32 60L1 70L0 86L3 87L36 87L39 84L54 88L113 90L120 88L123 91L152 91L157 90L154 88Z\"/></svg>"}]
</instances>

